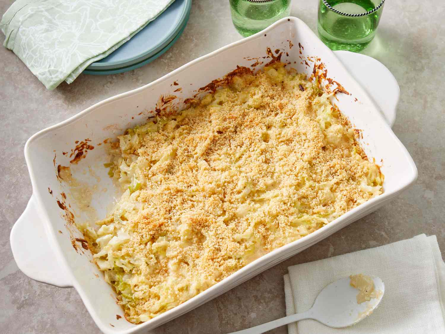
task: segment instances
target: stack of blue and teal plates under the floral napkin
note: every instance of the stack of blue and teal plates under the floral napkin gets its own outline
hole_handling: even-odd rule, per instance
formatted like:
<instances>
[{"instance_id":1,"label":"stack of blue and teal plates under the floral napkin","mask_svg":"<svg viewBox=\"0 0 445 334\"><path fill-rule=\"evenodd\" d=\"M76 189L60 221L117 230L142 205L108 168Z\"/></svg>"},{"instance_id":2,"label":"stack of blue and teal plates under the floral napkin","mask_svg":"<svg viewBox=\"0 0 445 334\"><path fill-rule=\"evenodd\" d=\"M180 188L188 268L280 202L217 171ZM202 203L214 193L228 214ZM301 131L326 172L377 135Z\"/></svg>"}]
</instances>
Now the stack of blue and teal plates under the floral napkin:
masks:
<instances>
[{"instance_id":1,"label":"stack of blue and teal plates under the floral napkin","mask_svg":"<svg viewBox=\"0 0 445 334\"><path fill-rule=\"evenodd\" d=\"M190 16L191 3L192 0L175 0L133 38L107 57L90 64L83 73L116 74L154 61L181 36Z\"/></svg>"}]
</instances>

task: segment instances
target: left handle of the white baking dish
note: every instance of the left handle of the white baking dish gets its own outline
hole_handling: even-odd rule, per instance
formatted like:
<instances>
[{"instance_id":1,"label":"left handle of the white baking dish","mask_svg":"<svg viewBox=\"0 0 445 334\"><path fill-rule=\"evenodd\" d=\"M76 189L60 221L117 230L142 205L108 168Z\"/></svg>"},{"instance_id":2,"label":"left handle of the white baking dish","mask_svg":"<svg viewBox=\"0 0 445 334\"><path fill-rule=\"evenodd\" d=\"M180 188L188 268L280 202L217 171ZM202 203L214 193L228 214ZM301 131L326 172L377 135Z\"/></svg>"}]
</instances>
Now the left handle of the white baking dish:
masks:
<instances>
[{"instance_id":1,"label":"left handle of the white baking dish","mask_svg":"<svg viewBox=\"0 0 445 334\"><path fill-rule=\"evenodd\" d=\"M34 196L12 227L10 242L14 260L26 276L61 288L73 286L48 239Z\"/></svg>"}]
</instances>

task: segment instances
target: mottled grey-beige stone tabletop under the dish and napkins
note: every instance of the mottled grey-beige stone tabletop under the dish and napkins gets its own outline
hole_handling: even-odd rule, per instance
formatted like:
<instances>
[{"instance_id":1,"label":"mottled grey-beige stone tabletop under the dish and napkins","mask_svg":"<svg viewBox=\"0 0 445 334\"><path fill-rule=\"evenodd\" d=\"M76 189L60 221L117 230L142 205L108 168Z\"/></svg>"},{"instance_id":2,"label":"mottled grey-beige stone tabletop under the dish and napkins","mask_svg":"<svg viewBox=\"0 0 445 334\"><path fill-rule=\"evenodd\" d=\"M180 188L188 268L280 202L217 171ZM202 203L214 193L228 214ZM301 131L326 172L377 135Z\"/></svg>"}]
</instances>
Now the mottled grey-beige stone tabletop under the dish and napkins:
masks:
<instances>
[{"instance_id":1,"label":"mottled grey-beige stone tabletop under the dish and napkins","mask_svg":"<svg viewBox=\"0 0 445 334\"><path fill-rule=\"evenodd\" d=\"M11 4L12 0L0 0L0 13ZM292 1L291 15L314 31L316 12L315 0ZM282 317L283 274L289 265L420 233L435 234L445 251L444 16L441 0L387 1L377 36L364 50L399 82L401 101L393 130L417 164L417 182L378 211L153 333L225 333ZM46 90L12 52L0 47L1 332L99 332L74 289L32 281L12 258L9 233L32 193L23 155L25 141L104 98L149 83L240 38L231 23L229 1L194 0L183 35L153 63L117 75L80 75L71 85L63 83L53 91ZM287 333L287 328L272 332Z\"/></svg>"}]
</instances>

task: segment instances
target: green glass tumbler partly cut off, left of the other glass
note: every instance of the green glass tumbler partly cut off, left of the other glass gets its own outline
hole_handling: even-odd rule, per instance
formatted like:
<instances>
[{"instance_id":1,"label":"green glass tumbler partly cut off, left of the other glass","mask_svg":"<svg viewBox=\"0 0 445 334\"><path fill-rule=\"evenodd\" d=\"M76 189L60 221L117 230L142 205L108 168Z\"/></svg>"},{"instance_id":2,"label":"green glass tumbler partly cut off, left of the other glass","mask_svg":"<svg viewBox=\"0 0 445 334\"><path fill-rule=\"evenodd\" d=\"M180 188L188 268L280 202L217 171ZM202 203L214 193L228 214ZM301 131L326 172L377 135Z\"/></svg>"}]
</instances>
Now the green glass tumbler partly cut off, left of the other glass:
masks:
<instances>
[{"instance_id":1,"label":"green glass tumbler partly cut off, left of the other glass","mask_svg":"<svg viewBox=\"0 0 445 334\"><path fill-rule=\"evenodd\" d=\"M289 16L291 0L230 0L232 21L236 30L251 36Z\"/></svg>"}]
</instances>

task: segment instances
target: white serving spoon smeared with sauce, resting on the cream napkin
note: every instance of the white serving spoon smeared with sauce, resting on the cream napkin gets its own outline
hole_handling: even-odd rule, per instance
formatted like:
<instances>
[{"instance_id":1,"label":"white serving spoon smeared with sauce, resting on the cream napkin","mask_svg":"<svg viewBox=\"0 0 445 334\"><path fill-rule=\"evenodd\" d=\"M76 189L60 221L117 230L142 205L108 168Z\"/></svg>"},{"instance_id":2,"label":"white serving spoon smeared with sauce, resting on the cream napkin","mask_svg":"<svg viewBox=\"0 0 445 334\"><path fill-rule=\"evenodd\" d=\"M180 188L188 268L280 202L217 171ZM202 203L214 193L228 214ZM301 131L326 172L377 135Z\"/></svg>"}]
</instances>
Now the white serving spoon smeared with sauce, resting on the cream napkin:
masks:
<instances>
[{"instance_id":1,"label":"white serving spoon smeared with sauce, resting on the cream napkin","mask_svg":"<svg viewBox=\"0 0 445 334\"><path fill-rule=\"evenodd\" d=\"M360 291L350 285L350 277L344 277L321 290L312 309L232 334L264 333L267 330L304 319L314 319L334 328L352 326L371 314L382 300L385 286L379 277L371 276L371 278L374 281L377 297L371 298L369 301L359 304L356 297Z\"/></svg>"}]
</instances>

